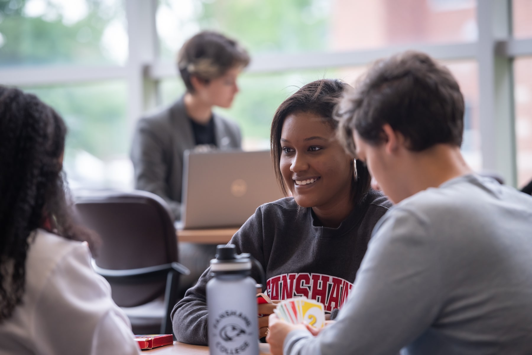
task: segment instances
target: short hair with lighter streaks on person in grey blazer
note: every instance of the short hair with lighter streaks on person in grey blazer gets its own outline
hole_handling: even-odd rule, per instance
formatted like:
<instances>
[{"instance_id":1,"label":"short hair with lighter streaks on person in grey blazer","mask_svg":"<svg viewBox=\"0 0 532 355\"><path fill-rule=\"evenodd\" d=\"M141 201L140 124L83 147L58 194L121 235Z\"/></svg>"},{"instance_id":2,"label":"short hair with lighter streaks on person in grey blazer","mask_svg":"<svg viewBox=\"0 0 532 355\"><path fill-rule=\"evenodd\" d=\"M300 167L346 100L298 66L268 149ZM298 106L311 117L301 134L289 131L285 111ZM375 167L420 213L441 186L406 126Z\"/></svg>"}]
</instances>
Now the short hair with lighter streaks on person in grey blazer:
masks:
<instances>
[{"instance_id":1,"label":"short hair with lighter streaks on person in grey blazer","mask_svg":"<svg viewBox=\"0 0 532 355\"><path fill-rule=\"evenodd\" d=\"M236 40L213 31L200 32L187 40L177 57L181 78L190 93L194 92L190 77L209 82L231 68L244 68L249 63L250 56Z\"/></svg>"}]
</instances>

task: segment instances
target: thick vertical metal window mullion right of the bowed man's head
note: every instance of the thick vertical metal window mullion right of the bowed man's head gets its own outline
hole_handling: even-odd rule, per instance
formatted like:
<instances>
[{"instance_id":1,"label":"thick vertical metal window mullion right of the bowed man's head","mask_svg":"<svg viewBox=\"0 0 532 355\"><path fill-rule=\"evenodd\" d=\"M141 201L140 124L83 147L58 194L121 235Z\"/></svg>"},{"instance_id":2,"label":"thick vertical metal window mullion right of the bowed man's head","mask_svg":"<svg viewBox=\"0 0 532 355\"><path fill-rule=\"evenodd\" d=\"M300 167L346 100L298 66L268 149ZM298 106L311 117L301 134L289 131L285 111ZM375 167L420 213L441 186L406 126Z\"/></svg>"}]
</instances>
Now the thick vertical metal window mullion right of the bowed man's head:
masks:
<instances>
[{"instance_id":1,"label":"thick vertical metal window mullion right of the bowed man's head","mask_svg":"<svg viewBox=\"0 0 532 355\"><path fill-rule=\"evenodd\" d=\"M477 2L480 137L483 168L517 185L512 58L501 39L511 35L510 0Z\"/></svg>"}]
</instances>

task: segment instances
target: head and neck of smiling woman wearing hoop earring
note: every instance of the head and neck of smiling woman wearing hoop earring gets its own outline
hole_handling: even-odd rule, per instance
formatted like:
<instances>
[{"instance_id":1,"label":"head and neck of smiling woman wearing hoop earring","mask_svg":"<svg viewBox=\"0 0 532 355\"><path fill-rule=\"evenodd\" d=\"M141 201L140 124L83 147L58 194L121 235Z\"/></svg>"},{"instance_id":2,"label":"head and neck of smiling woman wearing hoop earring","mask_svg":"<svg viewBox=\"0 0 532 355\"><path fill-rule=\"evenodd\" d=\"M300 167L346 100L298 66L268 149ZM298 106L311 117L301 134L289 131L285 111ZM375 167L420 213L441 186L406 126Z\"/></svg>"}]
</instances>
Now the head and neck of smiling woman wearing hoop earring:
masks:
<instances>
[{"instance_id":1,"label":"head and neck of smiling woman wearing hoop earring","mask_svg":"<svg viewBox=\"0 0 532 355\"><path fill-rule=\"evenodd\" d=\"M312 208L317 222L327 227L337 227L370 188L364 164L336 138L332 110L346 86L340 80L310 82L279 106L271 126L273 166L282 191Z\"/></svg>"}]
</instances>

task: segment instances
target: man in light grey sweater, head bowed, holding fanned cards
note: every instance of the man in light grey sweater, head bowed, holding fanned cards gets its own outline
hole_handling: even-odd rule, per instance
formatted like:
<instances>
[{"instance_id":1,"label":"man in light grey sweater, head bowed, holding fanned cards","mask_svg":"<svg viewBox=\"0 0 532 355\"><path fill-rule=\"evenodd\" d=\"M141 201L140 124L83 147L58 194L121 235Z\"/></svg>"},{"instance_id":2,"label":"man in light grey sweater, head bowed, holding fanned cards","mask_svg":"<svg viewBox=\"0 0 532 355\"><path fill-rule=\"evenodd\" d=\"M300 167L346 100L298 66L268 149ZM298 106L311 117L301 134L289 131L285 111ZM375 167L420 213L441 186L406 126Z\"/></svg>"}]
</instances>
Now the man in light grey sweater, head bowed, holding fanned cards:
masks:
<instances>
[{"instance_id":1,"label":"man in light grey sweater, head bowed, holding fanned cards","mask_svg":"<svg viewBox=\"0 0 532 355\"><path fill-rule=\"evenodd\" d=\"M531 354L532 197L463 160L451 73L426 54L397 54L336 112L346 146L395 205L335 324L272 316L272 354Z\"/></svg>"}]
</instances>

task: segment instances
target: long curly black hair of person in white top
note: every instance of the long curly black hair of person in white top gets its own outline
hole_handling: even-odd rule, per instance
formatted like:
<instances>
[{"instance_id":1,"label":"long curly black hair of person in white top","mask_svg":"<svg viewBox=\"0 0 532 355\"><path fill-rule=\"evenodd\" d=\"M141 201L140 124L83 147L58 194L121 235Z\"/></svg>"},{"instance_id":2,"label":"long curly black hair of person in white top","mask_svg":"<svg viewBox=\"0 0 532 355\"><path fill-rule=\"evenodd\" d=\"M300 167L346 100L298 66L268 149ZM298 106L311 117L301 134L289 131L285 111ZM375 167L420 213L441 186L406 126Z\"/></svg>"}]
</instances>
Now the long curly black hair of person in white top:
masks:
<instances>
[{"instance_id":1,"label":"long curly black hair of person in white top","mask_svg":"<svg viewBox=\"0 0 532 355\"><path fill-rule=\"evenodd\" d=\"M22 300L35 229L95 241L73 223L66 203L65 134L61 117L35 95L0 86L0 321Z\"/></svg>"}]
</instances>

